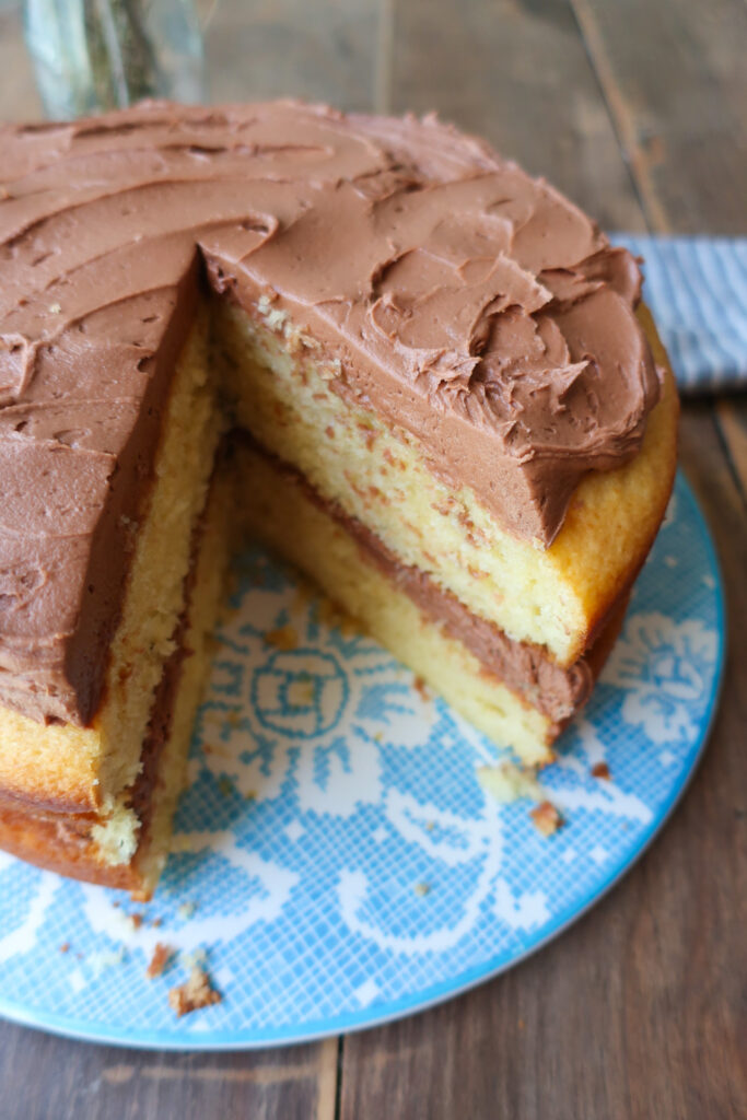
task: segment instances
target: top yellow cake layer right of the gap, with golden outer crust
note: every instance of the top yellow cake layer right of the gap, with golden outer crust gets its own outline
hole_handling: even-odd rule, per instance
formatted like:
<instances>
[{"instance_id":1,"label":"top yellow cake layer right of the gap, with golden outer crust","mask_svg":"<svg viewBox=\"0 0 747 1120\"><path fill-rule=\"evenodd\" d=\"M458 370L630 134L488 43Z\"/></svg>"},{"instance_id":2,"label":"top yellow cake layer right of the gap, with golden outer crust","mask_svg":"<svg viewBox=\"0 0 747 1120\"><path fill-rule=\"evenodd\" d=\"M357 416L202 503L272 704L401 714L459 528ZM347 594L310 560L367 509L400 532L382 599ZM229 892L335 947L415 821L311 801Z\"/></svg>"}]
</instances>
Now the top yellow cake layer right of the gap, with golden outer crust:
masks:
<instances>
[{"instance_id":1,"label":"top yellow cake layer right of the gap, with golden outer crust","mask_svg":"<svg viewBox=\"0 0 747 1120\"><path fill-rule=\"evenodd\" d=\"M639 455L587 476L543 550L504 532L467 486L455 491L442 482L404 429L343 400L334 363L315 358L314 340L284 312L260 306L250 318L228 301L214 310L239 422L403 563L427 571L515 641L547 647L562 666L582 655L635 577L671 489L676 394L651 317L641 314L667 371L663 400Z\"/></svg>"}]
</instances>

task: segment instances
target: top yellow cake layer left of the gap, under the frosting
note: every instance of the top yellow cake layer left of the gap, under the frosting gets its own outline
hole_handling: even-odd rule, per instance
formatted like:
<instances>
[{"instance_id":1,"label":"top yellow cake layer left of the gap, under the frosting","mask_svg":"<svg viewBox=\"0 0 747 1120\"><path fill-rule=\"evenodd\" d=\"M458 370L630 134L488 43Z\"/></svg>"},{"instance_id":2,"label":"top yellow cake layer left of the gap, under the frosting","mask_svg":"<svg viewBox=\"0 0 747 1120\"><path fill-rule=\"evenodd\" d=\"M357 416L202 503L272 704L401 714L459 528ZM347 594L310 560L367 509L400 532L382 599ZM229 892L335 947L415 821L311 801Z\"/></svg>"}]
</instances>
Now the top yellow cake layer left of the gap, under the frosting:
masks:
<instances>
[{"instance_id":1,"label":"top yellow cake layer left of the gap, under the frosting","mask_svg":"<svg viewBox=\"0 0 747 1120\"><path fill-rule=\"evenodd\" d=\"M120 836L130 831L130 846L137 822L122 810L120 795L140 767L153 692L174 648L193 531L220 435L208 365L203 308L177 362L103 700L91 726L45 726L0 708L0 791L60 809L115 814Z\"/></svg>"}]
</instances>

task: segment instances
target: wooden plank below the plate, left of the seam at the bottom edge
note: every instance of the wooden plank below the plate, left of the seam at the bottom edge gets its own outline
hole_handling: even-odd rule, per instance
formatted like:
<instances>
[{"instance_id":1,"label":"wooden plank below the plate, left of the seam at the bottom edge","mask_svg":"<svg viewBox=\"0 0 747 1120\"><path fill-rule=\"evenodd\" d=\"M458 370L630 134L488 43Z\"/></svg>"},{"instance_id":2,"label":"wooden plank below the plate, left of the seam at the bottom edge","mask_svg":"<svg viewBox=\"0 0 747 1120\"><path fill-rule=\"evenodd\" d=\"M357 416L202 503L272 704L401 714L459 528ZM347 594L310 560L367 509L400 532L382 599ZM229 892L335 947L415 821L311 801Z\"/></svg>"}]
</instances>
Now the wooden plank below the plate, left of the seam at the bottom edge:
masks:
<instances>
[{"instance_id":1,"label":"wooden plank below the plate, left of the seam at the bottom edge","mask_svg":"<svg viewBox=\"0 0 747 1120\"><path fill-rule=\"evenodd\" d=\"M337 1042L236 1054L86 1046L0 1020L8 1120L334 1120Z\"/></svg>"}]
</instances>

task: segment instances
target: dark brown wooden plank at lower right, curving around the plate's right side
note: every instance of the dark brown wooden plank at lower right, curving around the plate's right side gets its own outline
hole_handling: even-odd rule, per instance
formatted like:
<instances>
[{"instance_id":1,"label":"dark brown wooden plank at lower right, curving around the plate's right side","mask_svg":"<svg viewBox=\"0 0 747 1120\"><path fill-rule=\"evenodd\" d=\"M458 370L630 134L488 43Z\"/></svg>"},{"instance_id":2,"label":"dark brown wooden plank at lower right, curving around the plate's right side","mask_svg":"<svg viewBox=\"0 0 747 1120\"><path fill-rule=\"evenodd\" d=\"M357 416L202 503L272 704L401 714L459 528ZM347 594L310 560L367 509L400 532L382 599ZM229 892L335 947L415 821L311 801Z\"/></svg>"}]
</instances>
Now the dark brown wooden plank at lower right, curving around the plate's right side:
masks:
<instances>
[{"instance_id":1,"label":"dark brown wooden plank at lower right, curving around the plate's right side","mask_svg":"<svg viewBox=\"0 0 747 1120\"><path fill-rule=\"evenodd\" d=\"M690 791L638 867L554 944L459 1000L348 1037L342 1120L747 1114L747 535L708 405L688 409L682 457L736 620L719 717Z\"/></svg>"}]
</instances>

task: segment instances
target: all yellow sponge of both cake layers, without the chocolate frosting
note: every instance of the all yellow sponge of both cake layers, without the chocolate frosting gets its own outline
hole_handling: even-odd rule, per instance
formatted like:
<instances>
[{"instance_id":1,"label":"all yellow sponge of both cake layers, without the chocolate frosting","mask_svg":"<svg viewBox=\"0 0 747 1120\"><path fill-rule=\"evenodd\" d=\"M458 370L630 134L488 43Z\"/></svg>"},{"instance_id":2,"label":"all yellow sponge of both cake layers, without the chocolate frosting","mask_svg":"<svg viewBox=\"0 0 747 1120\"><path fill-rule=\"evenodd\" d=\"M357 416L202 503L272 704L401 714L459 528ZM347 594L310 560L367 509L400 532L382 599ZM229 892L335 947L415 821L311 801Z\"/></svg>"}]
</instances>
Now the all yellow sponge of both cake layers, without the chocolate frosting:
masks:
<instances>
[{"instance_id":1,"label":"all yellow sponge of both cake layers, without the chocolate frosting","mask_svg":"<svg viewBox=\"0 0 747 1120\"><path fill-rule=\"evenodd\" d=\"M166 857L199 699L204 635L223 571L217 557L227 548L228 528L220 517L204 549L213 557L209 578L200 568L195 591L196 631L189 641L197 655L187 659L174 702L144 843L130 790L184 613L194 530L228 422L246 427L324 498L372 531L404 564L428 572L473 614L514 641L543 646L563 666L581 656L645 558L673 478L673 377L648 314L641 316L656 361L667 371L643 448L626 467L581 483L560 534L543 550L504 532L468 487L452 491L413 436L344 400L333 388L335 364L317 356L284 316L265 306L254 321L226 301L203 308L177 363L100 711L90 727L78 728L44 726L0 708L0 796L28 803L31 842L34 805L59 811L63 829L69 813L71 836L80 829L75 814L92 811L86 858L95 866L90 872L84 868L83 877L99 876L99 866L119 869L129 875L119 885L143 897L152 889ZM227 409L218 407L218 395ZM495 743L513 747L527 765L552 757L557 726L550 718L426 618L300 486L246 449L235 464L237 508L255 535L309 575ZM64 859L55 866L66 869Z\"/></svg>"}]
</instances>

